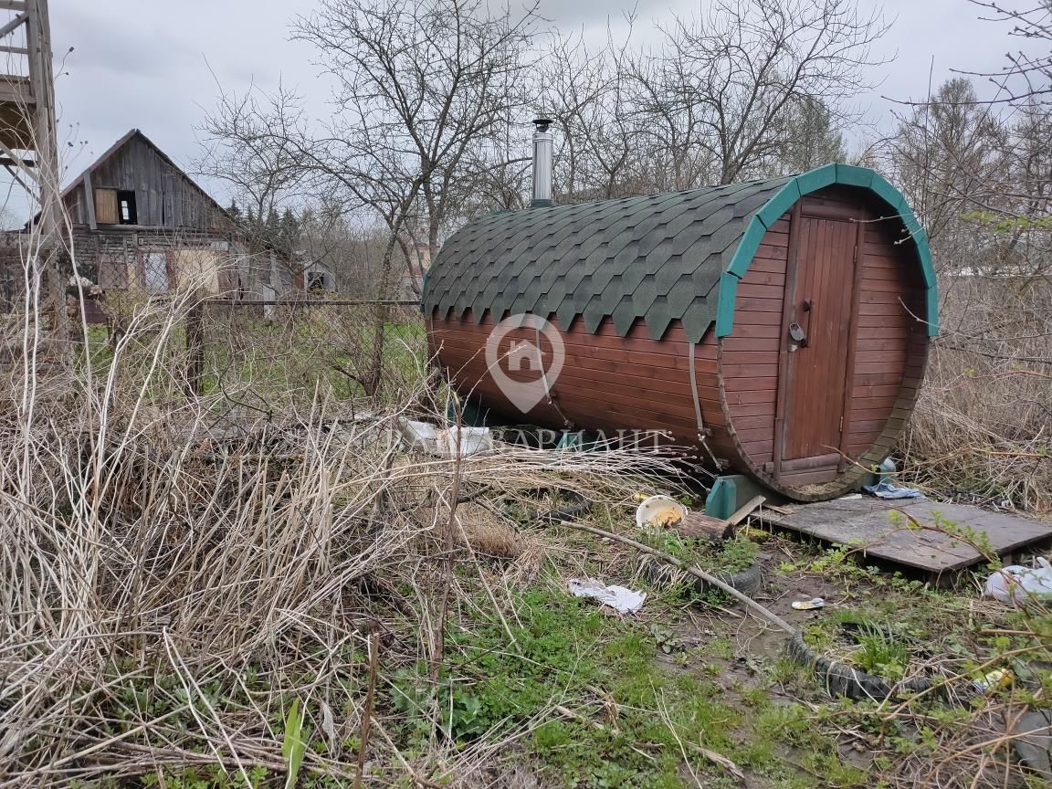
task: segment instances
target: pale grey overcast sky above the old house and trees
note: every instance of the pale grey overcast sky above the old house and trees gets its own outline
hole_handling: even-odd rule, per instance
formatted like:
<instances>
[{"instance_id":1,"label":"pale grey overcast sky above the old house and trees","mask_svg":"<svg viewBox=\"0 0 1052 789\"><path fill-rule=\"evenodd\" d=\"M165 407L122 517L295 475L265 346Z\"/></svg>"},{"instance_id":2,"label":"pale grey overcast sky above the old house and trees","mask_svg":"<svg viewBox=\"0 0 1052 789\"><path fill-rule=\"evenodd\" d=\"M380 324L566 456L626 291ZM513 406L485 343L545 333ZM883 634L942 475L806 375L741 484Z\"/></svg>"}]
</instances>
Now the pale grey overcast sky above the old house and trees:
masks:
<instances>
[{"instance_id":1,"label":"pale grey overcast sky above the old house and trees","mask_svg":"<svg viewBox=\"0 0 1052 789\"><path fill-rule=\"evenodd\" d=\"M700 3L708 0L542 0L541 11L563 31L601 38L608 19L619 23L625 8L638 8L636 28L645 35L654 21L696 13ZM861 5L868 7L865 0ZM313 6L313 0L50 0L59 137L72 143L64 147L66 181L133 127L188 166L198 153L196 127L220 85L272 88L282 80L324 113L328 87L313 53L288 40L289 21ZM883 84L858 97L858 106L885 129L891 105L882 96L923 98L932 58L937 85L954 67L997 68L1012 44L1003 25L979 21L967 0L886 0L883 9L893 26L876 54L895 60L874 75ZM221 184L202 185L221 202L229 197Z\"/></svg>"}]
</instances>

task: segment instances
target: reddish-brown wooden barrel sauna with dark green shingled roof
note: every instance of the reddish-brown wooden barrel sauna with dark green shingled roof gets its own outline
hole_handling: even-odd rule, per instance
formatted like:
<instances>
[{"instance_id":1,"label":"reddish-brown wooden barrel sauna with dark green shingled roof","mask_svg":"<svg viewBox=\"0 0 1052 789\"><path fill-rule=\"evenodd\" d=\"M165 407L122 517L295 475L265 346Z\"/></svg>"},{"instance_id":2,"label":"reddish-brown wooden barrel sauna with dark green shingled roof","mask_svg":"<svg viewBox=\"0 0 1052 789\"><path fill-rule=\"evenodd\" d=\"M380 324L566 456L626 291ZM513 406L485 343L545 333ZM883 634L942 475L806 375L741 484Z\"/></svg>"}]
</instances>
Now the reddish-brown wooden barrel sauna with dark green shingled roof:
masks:
<instances>
[{"instance_id":1,"label":"reddish-brown wooden barrel sauna with dark green shingled roof","mask_svg":"<svg viewBox=\"0 0 1052 789\"><path fill-rule=\"evenodd\" d=\"M454 387L509 421L661 429L798 501L852 489L888 456L938 313L905 199L839 164L491 214L443 246L422 309ZM525 413L485 350L494 324L522 315L550 321L565 347L548 397ZM553 349L525 328L505 341L534 336Z\"/></svg>"}]
</instances>

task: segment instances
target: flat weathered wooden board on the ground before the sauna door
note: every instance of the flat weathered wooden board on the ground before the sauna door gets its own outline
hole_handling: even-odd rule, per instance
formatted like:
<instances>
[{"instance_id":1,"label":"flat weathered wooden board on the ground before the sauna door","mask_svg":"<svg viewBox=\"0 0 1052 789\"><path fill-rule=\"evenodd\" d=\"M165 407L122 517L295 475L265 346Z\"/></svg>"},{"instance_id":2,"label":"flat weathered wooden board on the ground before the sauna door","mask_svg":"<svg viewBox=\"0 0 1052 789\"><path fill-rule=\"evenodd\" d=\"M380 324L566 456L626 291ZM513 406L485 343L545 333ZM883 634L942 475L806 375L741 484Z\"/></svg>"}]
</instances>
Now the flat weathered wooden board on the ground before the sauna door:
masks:
<instances>
[{"instance_id":1,"label":"flat weathered wooden board on the ground before the sauna door","mask_svg":"<svg viewBox=\"0 0 1052 789\"><path fill-rule=\"evenodd\" d=\"M923 527L950 523L985 533L998 555L1052 539L1052 523L1046 521L928 499L884 501L864 495L781 509L788 514L765 509L764 522L830 543L857 545L867 558L934 573L964 569L983 557L945 532L910 528L905 518L896 523L894 510L911 515Z\"/></svg>"}]
</instances>

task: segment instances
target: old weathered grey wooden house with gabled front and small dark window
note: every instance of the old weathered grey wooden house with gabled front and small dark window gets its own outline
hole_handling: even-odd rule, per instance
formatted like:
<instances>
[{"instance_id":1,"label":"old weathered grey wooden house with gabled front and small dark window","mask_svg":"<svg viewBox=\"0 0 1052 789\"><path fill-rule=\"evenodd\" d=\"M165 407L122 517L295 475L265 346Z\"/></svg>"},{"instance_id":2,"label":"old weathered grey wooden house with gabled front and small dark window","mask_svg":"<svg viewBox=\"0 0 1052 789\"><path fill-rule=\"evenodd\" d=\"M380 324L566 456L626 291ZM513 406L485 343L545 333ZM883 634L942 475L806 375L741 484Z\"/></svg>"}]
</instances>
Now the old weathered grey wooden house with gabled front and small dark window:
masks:
<instances>
[{"instance_id":1,"label":"old weathered grey wooden house with gabled front and small dark window","mask_svg":"<svg viewBox=\"0 0 1052 789\"><path fill-rule=\"evenodd\" d=\"M211 292L250 287L234 220L139 129L78 176L62 202L77 270L106 292L163 294L189 278Z\"/></svg>"}]
</instances>

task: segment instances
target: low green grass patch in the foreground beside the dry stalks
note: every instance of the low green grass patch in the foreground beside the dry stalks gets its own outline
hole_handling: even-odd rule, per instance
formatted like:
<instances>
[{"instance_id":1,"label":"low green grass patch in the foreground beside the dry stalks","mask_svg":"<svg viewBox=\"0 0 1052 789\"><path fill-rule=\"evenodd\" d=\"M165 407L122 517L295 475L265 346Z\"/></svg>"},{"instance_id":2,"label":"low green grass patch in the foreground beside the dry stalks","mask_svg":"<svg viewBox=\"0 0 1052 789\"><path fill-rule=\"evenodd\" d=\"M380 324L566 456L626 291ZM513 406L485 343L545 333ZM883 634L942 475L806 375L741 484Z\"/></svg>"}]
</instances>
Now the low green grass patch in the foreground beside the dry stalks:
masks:
<instances>
[{"instance_id":1,"label":"low green grass patch in the foreground beside the dry stalks","mask_svg":"<svg viewBox=\"0 0 1052 789\"><path fill-rule=\"evenodd\" d=\"M714 751L743 769L777 776L776 785L814 786L777 752L803 739L835 785L865 785L865 775L841 764L835 747L806 726L788 736L765 728L773 714L765 689L730 697L696 662L677 670L655 660L669 644L662 628L606 616L589 602L550 589L518 598L521 626L510 635L495 619L452 632L456 656L437 687L423 664L394 674L384 703L400 716L406 753L422 754L438 722L442 735L460 747L481 737L521 741L526 732L534 769L566 787L680 789L691 785L685 783L684 751L690 769L713 782L707 785L719 786L714 782L728 775L704 755ZM574 715L552 711L555 704Z\"/></svg>"}]
</instances>

